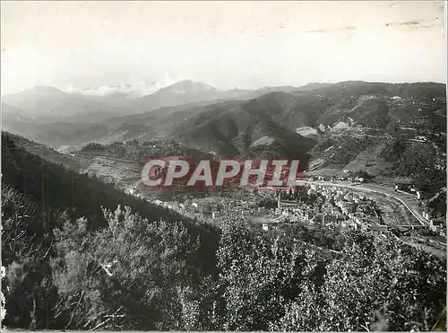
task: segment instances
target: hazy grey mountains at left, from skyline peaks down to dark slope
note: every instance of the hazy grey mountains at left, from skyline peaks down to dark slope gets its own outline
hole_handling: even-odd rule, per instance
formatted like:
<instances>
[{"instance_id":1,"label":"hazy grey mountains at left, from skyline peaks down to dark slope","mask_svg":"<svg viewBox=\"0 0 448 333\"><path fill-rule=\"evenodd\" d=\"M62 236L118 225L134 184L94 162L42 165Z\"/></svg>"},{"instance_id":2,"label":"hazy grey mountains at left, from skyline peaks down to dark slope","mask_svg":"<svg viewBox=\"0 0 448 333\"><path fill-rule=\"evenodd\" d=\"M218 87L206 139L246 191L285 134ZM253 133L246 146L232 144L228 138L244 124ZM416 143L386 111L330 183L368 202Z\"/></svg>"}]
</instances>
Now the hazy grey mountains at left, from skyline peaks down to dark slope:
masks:
<instances>
[{"instance_id":1,"label":"hazy grey mountains at left, from skyline peaks down to dark slope","mask_svg":"<svg viewBox=\"0 0 448 333\"><path fill-rule=\"evenodd\" d=\"M198 106L218 100L245 100L267 92L266 89L220 91L208 84L188 80L168 85L142 97L136 97L131 88L133 87L103 87L103 92L107 93L100 95L89 90L82 93L63 92L53 87L36 86L4 95L2 125L12 133L59 147L82 144L108 136L110 129L132 122L134 115L137 115L138 119L139 114L152 110L187 103L190 107L191 103ZM167 113L168 116L171 111L167 110ZM152 116L154 115L145 117L154 118ZM141 127L141 124L134 124L134 127Z\"/></svg>"}]
</instances>

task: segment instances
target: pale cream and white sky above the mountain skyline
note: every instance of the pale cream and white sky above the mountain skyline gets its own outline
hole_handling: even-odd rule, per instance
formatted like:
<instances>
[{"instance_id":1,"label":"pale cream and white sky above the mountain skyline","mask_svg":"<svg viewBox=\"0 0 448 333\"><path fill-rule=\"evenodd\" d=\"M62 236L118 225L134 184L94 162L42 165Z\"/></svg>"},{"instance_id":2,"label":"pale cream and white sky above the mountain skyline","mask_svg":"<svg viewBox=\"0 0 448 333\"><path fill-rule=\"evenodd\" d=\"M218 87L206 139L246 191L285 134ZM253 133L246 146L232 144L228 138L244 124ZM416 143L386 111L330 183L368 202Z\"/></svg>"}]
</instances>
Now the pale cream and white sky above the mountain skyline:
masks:
<instances>
[{"instance_id":1,"label":"pale cream and white sky above the mountain skyline","mask_svg":"<svg viewBox=\"0 0 448 333\"><path fill-rule=\"evenodd\" d=\"M446 83L443 1L1 6L2 94L180 79L220 89Z\"/></svg>"}]
</instances>

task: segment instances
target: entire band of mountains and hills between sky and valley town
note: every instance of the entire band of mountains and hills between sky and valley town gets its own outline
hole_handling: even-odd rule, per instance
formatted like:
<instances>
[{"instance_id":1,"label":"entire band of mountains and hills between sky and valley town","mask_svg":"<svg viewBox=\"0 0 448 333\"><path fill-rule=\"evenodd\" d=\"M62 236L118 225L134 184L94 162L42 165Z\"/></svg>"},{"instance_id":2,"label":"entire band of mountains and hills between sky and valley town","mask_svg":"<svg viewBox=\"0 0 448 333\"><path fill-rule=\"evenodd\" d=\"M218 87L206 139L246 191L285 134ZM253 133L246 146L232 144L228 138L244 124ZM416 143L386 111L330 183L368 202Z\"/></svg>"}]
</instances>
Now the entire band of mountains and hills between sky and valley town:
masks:
<instances>
[{"instance_id":1,"label":"entire band of mountains and hills between sky and valley town","mask_svg":"<svg viewBox=\"0 0 448 333\"><path fill-rule=\"evenodd\" d=\"M208 153L302 156L327 135L446 133L446 86L352 81L220 91L181 81L136 99L36 87L4 96L2 113L5 130L57 149L170 138Z\"/></svg>"}]
</instances>

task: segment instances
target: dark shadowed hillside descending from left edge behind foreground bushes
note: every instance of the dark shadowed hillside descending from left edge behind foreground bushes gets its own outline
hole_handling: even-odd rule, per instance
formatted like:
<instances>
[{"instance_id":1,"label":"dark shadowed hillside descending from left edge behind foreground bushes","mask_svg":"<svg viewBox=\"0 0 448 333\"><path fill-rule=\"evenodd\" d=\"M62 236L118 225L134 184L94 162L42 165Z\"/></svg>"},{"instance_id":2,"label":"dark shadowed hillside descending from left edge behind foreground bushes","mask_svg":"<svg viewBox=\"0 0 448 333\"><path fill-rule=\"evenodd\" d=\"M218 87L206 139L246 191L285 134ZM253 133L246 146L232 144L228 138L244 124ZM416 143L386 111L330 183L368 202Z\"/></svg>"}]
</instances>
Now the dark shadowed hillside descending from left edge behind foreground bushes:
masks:
<instances>
[{"instance_id":1,"label":"dark shadowed hillside descending from left edge behind foreground bushes","mask_svg":"<svg viewBox=\"0 0 448 333\"><path fill-rule=\"evenodd\" d=\"M2 173L2 265L7 272L7 282L2 288L7 299L4 321L7 327L91 329L99 324L99 321L94 321L81 326L80 323L73 322L72 315L77 310L71 312L68 304L76 297L76 293L71 294L66 289L66 284L73 279L74 283L81 277L76 275L76 271L82 269L82 263L88 265L89 274L100 278L107 274L104 269L101 270L101 265L106 263L98 256L90 261L76 258L74 249L81 251L78 253L82 255L85 253L83 245L77 247L74 241L88 241L94 234L107 229L114 219L124 223L129 218L138 218L141 227L149 225L148 232L155 236L142 233L139 237L144 237L145 241L157 241L152 245L146 244L141 249L143 257L149 259L148 253L151 252L157 257L158 251L167 257L161 261L158 259L159 268L155 262L151 265L155 272L152 281L155 285L166 282L159 275L170 265L185 267L189 272L193 270L194 273L187 276L189 281L198 279L194 274L213 272L218 231L212 227L196 225L164 208L127 196L111 185L67 170L62 165L46 162L25 151L22 146L15 145L12 137L7 134L2 134ZM142 217L131 215L130 209ZM108 212L114 212L115 215L109 215ZM148 220L144 220L146 218ZM168 233L172 233L172 236L168 236ZM86 238L77 238L78 236ZM179 237L179 242L173 241L174 237ZM171 242L173 249L168 249L163 240ZM123 247L131 250L128 246L134 238L116 241L120 249ZM184 248L181 246L182 241L185 242ZM103 245L100 250L112 253L112 244ZM66 247L70 250L62 252ZM184 249L189 252L186 253ZM134 259L134 256L135 252L125 255L127 259ZM95 270L96 268L91 270L91 265L100 267L100 271ZM140 266L135 267L142 269ZM65 273L57 273L58 269ZM173 269L177 271L177 268ZM84 277L86 276L82 276ZM60 279L66 280L61 282ZM83 281L90 284L89 279ZM168 278L167 281L171 280ZM58 285L59 283L62 285ZM95 285L89 285L89 288L95 288ZM127 290L124 293L130 292ZM115 303L116 300L112 298L107 302ZM94 308L99 306L99 303L93 301L90 304ZM90 305L84 304L83 307L85 306ZM60 312L61 309L69 311L69 315ZM108 314L111 313L106 313ZM97 315L99 312L94 312L93 316ZM158 318L155 312L151 314L153 326L145 327L155 328Z\"/></svg>"}]
</instances>

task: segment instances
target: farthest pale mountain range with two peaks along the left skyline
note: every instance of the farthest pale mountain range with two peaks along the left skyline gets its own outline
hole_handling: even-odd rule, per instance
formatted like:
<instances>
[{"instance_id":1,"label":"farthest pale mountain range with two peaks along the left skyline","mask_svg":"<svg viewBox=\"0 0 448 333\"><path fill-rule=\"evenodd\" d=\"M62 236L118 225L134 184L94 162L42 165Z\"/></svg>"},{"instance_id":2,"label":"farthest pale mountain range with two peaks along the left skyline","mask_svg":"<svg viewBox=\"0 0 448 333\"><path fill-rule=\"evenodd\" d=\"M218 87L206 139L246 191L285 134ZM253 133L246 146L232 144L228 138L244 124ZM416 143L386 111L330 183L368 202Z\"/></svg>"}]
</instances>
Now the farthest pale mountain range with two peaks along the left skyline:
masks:
<instances>
[{"instance_id":1,"label":"farthest pale mountain range with two peaks along the left skyline","mask_svg":"<svg viewBox=\"0 0 448 333\"><path fill-rule=\"evenodd\" d=\"M146 87L146 86L145 86ZM36 86L2 96L2 103L16 110L17 117L31 116L39 123L68 121L98 122L106 118L137 114L168 106L198 101L248 100L271 91L293 91L293 87L265 87L259 90L219 90L206 83L183 80L150 94L135 91L134 86L120 85L90 90L63 92L53 87ZM147 87L146 87L147 88ZM10 108L4 112L11 115Z\"/></svg>"}]
</instances>

